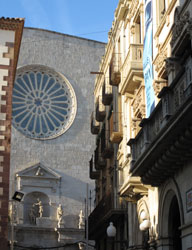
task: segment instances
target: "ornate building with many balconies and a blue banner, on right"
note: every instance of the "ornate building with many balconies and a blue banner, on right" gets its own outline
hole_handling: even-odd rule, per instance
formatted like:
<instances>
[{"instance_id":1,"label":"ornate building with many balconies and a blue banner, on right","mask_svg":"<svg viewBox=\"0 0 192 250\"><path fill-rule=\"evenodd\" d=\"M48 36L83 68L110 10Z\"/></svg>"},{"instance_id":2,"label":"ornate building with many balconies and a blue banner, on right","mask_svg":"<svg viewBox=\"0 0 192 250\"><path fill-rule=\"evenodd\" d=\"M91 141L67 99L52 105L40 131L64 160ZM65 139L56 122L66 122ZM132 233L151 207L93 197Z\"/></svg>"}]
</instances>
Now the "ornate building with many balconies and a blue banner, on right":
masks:
<instances>
[{"instance_id":1,"label":"ornate building with many balconies and a blue banner, on right","mask_svg":"<svg viewBox=\"0 0 192 250\"><path fill-rule=\"evenodd\" d=\"M91 117L96 249L192 247L191 16L191 1L119 1Z\"/></svg>"}]
</instances>

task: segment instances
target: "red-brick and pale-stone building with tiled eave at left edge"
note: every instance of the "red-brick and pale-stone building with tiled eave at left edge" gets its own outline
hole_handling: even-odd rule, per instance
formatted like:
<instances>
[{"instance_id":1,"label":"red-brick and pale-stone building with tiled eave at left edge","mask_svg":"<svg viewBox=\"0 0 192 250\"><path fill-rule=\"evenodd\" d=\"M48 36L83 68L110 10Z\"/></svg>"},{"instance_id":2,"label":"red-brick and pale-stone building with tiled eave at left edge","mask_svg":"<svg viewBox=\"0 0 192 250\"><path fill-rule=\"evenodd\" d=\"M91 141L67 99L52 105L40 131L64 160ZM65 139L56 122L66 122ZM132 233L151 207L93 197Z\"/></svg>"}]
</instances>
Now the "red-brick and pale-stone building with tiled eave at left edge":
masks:
<instances>
[{"instance_id":1,"label":"red-brick and pale-stone building with tiled eave at left edge","mask_svg":"<svg viewBox=\"0 0 192 250\"><path fill-rule=\"evenodd\" d=\"M8 246L12 89L23 20L0 19L0 249Z\"/></svg>"}]
</instances>

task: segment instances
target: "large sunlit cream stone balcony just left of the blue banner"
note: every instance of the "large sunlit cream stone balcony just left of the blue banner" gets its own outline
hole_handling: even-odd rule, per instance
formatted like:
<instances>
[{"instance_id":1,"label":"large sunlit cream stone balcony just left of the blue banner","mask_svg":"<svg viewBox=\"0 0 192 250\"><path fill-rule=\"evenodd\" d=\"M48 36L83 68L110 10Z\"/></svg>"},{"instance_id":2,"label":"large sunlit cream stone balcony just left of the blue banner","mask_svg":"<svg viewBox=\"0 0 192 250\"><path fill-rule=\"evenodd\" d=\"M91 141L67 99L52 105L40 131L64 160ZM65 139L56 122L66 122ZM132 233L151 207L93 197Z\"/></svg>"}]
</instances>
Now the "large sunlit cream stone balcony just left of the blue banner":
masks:
<instances>
[{"instance_id":1,"label":"large sunlit cream stone balcony just left of the blue banner","mask_svg":"<svg viewBox=\"0 0 192 250\"><path fill-rule=\"evenodd\" d=\"M130 44L127 57L122 65L122 80L119 84L119 92L134 94L143 77L143 45ZM138 78L139 77L139 78Z\"/></svg>"}]
</instances>

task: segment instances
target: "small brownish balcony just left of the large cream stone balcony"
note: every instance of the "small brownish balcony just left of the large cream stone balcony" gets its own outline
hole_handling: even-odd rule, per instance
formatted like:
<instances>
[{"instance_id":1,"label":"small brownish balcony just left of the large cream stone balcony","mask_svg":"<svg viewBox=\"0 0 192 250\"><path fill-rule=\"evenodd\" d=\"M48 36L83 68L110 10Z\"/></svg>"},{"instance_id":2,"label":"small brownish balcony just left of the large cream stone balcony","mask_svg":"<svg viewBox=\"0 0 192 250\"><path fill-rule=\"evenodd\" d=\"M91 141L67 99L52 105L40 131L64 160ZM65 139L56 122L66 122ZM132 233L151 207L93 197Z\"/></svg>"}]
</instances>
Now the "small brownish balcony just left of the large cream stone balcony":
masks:
<instances>
[{"instance_id":1,"label":"small brownish balcony just left of the large cream stone balcony","mask_svg":"<svg viewBox=\"0 0 192 250\"><path fill-rule=\"evenodd\" d=\"M109 84L112 86L118 86L118 84L121 81L120 66L121 66L121 55L119 53L114 53L110 65Z\"/></svg>"}]
</instances>

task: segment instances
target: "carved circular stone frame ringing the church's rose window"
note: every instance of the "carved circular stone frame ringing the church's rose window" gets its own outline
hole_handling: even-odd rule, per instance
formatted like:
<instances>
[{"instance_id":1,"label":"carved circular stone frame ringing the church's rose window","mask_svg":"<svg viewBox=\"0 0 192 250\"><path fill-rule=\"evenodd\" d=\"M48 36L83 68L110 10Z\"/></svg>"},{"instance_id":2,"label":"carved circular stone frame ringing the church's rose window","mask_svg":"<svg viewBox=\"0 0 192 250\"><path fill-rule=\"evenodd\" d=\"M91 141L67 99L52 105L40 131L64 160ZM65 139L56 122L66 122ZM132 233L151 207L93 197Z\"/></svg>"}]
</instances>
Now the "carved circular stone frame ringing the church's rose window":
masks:
<instances>
[{"instance_id":1,"label":"carved circular stone frame ringing the church's rose window","mask_svg":"<svg viewBox=\"0 0 192 250\"><path fill-rule=\"evenodd\" d=\"M15 121L14 115L12 115L12 124L19 132L21 132L23 135L25 135L28 138L35 139L35 140L55 139L58 136L64 134L71 127L71 125L73 124L75 120L76 113L77 113L77 99L76 99L75 91L72 85L70 84L70 82L68 81L68 79L63 74L55 71L54 69L50 67L47 67L44 65L38 65L38 64L19 67L16 72L15 82L17 81L19 77L22 78L25 74L29 74L30 72L33 72L34 74L37 74L37 73L46 74L50 78L54 78L55 85L60 84L60 86L62 86L62 88L64 88L65 90L64 93L66 93L65 95L67 95L67 100L68 100L67 105L70 102L70 106L68 108L68 111L70 112L68 113L67 111L65 121L63 121L59 127L55 127L55 129L52 132L48 131L49 133L47 132L41 135L35 134L34 131L30 133L29 130L21 127L21 124L19 125L19 123ZM37 82L37 78L36 78L36 82ZM13 90L14 90L14 87L13 87ZM17 96L14 96L14 93L13 93L13 101L12 101L13 111L14 111L14 104L16 104L16 102L14 102L14 97L17 97ZM33 100L33 102L35 101ZM26 105L26 102L24 104ZM38 106L38 104L36 104L36 106ZM25 108L27 109L26 106ZM32 113L32 111L30 112ZM39 115L42 115L42 114L39 114ZM42 130L43 128L41 127L41 132Z\"/></svg>"}]
</instances>

